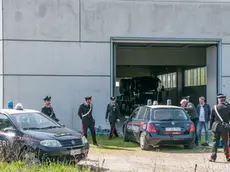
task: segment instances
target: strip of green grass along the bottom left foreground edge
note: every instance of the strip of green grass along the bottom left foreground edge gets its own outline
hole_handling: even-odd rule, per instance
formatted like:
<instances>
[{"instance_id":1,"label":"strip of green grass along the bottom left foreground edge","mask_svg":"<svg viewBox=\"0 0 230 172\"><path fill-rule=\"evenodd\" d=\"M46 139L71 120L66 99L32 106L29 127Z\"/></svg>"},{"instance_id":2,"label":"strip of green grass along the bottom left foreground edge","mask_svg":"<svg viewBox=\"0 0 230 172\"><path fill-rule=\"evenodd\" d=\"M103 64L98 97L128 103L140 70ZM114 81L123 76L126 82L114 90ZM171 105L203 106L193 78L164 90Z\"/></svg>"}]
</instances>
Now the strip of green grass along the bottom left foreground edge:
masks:
<instances>
[{"instance_id":1,"label":"strip of green grass along the bottom left foreground edge","mask_svg":"<svg viewBox=\"0 0 230 172\"><path fill-rule=\"evenodd\" d=\"M0 162L0 171L1 172L91 172L94 171L91 167L81 167L74 165L65 165L65 164L43 164L42 166L38 165L26 165L23 162L13 162L6 163Z\"/></svg>"}]
</instances>

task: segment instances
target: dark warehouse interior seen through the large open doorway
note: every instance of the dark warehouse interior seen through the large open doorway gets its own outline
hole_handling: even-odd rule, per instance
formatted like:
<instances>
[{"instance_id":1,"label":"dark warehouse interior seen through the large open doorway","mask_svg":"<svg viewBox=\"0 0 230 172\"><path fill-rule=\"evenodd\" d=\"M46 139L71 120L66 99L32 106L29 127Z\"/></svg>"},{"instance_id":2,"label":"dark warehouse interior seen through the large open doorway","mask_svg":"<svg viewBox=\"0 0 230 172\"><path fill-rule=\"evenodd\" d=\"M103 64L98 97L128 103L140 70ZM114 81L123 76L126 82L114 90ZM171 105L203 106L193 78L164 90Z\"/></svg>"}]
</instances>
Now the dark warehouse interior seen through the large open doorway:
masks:
<instances>
[{"instance_id":1,"label":"dark warehouse interior seen through the large open doorway","mask_svg":"<svg viewBox=\"0 0 230 172\"><path fill-rule=\"evenodd\" d=\"M114 75L116 76L116 83L114 83L114 95L119 101L124 100L123 92L120 92L120 87L124 86L121 80L137 77L152 77L160 80L158 86L161 85L161 90L159 91L155 87L157 93L155 97L153 96L152 101L157 99L161 104L166 104L167 99L171 99L172 105L179 105L180 100L189 95L190 101L197 105L200 96L206 97L205 66L207 45L118 44L115 47L116 69ZM201 72L203 72L202 76ZM188 80L191 81L188 82ZM149 80L143 84L148 85L148 82L151 83ZM127 89L130 89L130 86ZM124 91L124 89L122 90ZM145 91L145 94L147 94L146 92L151 92L150 88L148 90L147 87L146 90L143 89L142 91ZM138 94L136 93L136 95ZM126 96L125 104L134 104L130 103L130 101L135 96L128 97L129 100ZM142 101L142 103L144 102L147 104L147 99ZM136 106L138 105L140 104ZM134 108L135 106L131 108L129 113Z\"/></svg>"}]
</instances>

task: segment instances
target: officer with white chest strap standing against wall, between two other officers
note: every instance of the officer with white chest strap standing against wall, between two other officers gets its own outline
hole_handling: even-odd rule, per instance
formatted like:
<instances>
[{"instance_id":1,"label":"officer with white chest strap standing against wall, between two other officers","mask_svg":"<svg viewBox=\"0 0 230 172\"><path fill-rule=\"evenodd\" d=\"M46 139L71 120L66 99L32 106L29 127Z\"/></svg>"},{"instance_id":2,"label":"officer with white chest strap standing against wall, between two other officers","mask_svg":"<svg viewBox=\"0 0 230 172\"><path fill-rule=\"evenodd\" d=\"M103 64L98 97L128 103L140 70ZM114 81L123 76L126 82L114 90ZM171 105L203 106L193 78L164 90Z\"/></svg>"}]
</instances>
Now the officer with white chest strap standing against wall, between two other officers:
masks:
<instances>
[{"instance_id":1,"label":"officer with white chest strap standing against wall, between two other officers","mask_svg":"<svg viewBox=\"0 0 230 172\"><path fill-rule=\"evenodd\" d=\"M93 144L98 146L96 140L96 132L95 132L95 120L92 116L93 105L91 103L92 96L85 97L85 102L82 103L78 110L78 115L82 120L82 134L87 138L88 129L91 132Z\"/></svg>"}]
</instances>

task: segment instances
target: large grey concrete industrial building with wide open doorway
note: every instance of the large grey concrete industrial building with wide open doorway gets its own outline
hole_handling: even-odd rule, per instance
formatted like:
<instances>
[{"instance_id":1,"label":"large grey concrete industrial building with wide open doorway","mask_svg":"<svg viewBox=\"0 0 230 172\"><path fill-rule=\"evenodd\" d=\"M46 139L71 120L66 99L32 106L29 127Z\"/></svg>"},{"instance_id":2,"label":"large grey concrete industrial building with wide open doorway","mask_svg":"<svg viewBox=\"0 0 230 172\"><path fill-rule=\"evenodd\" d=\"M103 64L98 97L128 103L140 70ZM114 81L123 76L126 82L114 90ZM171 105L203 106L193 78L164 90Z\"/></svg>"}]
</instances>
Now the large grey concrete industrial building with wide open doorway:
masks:
<instances>
[{"instance_id":1,"label":"large grey concrete industrial building with wide open doorway","mask_svg":"<svg viewBox=\"0 0 230 172\"><path fill-rule=\"evenodd\" d=\"M81 128L77 111L92 95L96 125L120 78L157 76L166 96L216 103L230 97L229 1L1 0L0 105L40 110Z\"/></svg>"}]
</instances>

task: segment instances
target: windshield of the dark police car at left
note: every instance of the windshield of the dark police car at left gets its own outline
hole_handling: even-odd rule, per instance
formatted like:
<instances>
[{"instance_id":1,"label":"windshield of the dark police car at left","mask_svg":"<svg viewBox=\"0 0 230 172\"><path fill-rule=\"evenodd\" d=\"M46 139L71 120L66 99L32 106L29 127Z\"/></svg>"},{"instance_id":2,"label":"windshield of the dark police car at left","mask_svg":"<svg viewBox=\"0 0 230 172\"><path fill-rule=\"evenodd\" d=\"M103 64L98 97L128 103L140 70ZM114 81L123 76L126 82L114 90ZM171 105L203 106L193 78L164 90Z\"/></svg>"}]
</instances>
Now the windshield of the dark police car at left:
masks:
<instances>
[{"instance_id":1,"label":"windshield of the dark police car at left","mask_svg":"<svg viewBox=\"0 0 230 172\"><path fill-rule=\"evenodd\" d=\"M60 127L56 122L41 113L18 113L12 115L13 120L23 129L44 129Z\"/></svg>"}]
</instances>

